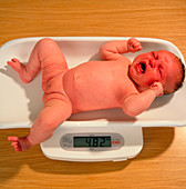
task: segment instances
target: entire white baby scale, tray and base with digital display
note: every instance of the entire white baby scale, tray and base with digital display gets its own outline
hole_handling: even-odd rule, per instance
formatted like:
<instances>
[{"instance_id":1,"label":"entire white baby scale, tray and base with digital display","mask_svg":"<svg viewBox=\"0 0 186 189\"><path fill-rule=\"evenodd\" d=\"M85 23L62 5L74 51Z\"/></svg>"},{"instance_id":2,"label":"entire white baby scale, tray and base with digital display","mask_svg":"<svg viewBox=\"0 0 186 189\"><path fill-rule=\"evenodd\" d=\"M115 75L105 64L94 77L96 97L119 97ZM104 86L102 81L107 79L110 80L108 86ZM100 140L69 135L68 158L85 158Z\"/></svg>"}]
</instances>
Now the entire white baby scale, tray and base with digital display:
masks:
<instances>
[{"instance_id":1,"label":"entire white baby scale, tray and base with digital display","mask_svg":"<svg viewBox=\"0 0 186 189\"><path fill-rule=\"evenodd\" d=\"M27 62L34 44L42 38L23 38L0 48L0 129L30 128L42 109L41 74L31 83L23 83L7 66L11 58ZM99 48L124 37L52 37L64 53L70 68L100 60ZM131 60L152 50L169 50L185 63L173 43L153 38L137 38L143 49L125 53ZM97 110L73 115L62 123L52 138L41 143L51 159L66 161L122 161L133 158L143 148L143 127L180 127L186 125L186 86L174 94L157 98L142 115L131 118L121 109Z\"/></svg>"}]
</instances>

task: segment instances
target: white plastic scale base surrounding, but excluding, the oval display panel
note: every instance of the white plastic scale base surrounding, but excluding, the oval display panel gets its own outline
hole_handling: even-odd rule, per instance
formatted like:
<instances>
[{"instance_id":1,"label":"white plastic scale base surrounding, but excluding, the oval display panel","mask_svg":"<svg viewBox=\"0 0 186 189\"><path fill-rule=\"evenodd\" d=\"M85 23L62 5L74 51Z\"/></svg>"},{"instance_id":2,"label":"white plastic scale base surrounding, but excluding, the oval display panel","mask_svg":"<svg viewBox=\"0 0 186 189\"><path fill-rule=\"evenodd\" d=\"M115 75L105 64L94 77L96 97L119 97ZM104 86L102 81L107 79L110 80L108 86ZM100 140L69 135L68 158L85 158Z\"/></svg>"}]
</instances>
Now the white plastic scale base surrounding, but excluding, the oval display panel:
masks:
<instances>
[{"instance_id":1,"label":"white plastic scale base surrounding, but excluding, the oval display panel","mask_svg":"<svg viewBox=\"0 0 186 189\"><path fill-rule=\"evenodd\" d=\"M120 133L124 139L124 146L117 150L64 150L61 138L66 133ZM60 126L54 135L43 143L41 150L50 159L81 162L124 161L136 157L143 148L142 127L134 126Z\"/></svg>"}]
</instances>

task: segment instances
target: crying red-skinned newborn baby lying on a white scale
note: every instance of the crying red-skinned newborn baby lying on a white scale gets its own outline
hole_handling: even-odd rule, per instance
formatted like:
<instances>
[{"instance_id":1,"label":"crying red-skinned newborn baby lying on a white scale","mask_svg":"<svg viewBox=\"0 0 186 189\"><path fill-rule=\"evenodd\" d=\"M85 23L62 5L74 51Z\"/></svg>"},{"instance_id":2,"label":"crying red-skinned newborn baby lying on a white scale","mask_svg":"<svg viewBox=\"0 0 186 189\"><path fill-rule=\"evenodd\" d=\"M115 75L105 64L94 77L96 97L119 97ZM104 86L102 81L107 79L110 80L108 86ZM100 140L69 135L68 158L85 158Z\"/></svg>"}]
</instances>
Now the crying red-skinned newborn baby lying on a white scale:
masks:
<instances>
[{"instance_id":1,"label":"crying red-skinned newborn baby lying on a white scale","mask_svg":"<svg viewBox=\"0 0 186 189\"><path fill-rule=\"evenodd\" d=\"M9 137L16 151L25 151L49 139L71 115L97 109L122 108L135 117L156 97L177 90L185 78L184 66L169 51L137 56L131 62L122 53L142 49L135 39L111 41L100 48L103 61L89 61L69 69L65 58L52 40L40 40L27 66L8 61L23 82L42 70L43 109L25 137Z\"/></svg>"}]
</instances>

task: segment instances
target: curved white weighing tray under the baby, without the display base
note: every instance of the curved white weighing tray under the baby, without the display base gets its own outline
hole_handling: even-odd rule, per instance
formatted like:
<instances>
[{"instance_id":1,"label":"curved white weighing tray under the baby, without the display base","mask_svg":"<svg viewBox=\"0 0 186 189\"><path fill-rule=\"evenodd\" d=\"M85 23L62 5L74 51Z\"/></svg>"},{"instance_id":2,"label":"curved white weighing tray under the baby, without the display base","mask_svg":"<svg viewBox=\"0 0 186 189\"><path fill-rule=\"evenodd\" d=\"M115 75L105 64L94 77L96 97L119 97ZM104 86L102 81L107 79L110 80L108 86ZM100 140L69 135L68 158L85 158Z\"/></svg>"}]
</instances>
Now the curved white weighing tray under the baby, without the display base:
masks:
<instances>
[{"instance_id":1,"label":"curved white weighing tray under the baby, without the display base","mask_svg":"<svg viewBox=\"0 0 186 189\"><path fill-rule=\"evenodd\" d=\"M69 67L89 60L99 60L99 48L111 40L125 40L124 37L51 37L63 51ZM42 109L41 74L31 83L22 83L17 72L7 66L11 58L27 62L38 40L22 38L7 42L0 48L0 129L30 128ZM185 63L182 52L173 43L153 38L137 38L143 50L126 53L131 60L138 53L152 50L169 50ZM141 126L175 127L185 126L186 86L174 94L156 98L148 110L136 118L127 117L120 109L97 110L73 115L63 126Z\"/></svg>"}]
</instances>

